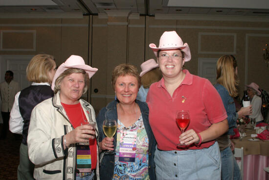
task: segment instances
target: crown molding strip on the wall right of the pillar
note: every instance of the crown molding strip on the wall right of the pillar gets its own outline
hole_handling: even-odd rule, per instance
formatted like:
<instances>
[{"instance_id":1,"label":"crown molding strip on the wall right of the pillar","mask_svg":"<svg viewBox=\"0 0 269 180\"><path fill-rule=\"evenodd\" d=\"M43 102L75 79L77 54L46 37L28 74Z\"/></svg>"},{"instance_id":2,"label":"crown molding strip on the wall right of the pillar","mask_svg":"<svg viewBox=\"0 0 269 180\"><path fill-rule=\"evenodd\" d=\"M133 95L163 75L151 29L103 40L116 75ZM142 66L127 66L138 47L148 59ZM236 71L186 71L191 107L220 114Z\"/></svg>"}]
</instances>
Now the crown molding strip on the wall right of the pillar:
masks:
<instances>
[{"instance_id":1,"label":"crown molding strip on the wall right of the pillar","mask_svg":"<svg viewBox=\"0 0 269 180\"><path fill-rule=\"evenodd\" d=\"M243 21L269 22L268 16L215 16L215 15L185 15L185 14L155 14L156 20L198 20L198 21Z\"/></svg>"}]
</instances>

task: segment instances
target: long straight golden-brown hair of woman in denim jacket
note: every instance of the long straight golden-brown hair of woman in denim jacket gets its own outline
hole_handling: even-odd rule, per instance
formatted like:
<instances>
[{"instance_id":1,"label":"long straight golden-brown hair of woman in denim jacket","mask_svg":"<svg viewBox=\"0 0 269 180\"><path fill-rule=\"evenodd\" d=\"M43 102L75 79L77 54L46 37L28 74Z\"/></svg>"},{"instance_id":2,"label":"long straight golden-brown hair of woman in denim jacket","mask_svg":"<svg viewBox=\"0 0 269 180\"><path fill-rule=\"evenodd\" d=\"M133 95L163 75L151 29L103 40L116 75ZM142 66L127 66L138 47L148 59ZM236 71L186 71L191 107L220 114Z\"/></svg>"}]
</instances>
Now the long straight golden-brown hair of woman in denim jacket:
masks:
<instances>
[{"instance_id":1,"label":"long straight golden-brown hair of woman in denim jacket","mask_svg":"<svg viewBox=\"0 0 269 180\"><path fill-rule=\"evenodd\" d=\"M231 97L238 95L239 79L235 74L237 62L232 55L223 55L217 61L217 83L223 85Z\"/></svg>"}]
</instances>

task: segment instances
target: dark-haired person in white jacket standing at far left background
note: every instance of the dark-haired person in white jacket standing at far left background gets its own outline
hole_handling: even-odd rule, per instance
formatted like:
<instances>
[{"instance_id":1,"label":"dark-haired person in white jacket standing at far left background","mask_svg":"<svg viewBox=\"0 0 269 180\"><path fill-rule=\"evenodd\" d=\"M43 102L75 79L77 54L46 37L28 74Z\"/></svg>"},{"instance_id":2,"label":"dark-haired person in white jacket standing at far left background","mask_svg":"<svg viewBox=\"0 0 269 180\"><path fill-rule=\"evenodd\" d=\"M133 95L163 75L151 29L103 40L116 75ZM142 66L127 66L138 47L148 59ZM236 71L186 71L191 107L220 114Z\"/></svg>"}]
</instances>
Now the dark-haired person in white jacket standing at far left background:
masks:
<instances>
[{"instance_id":1,"label":"dark-haired person in white jacket standing at far left background","mask_svg":"<svg viewBox=\"0 0 269 180\"><path fill-rule=\"evenodd\" d=\"M20 85L13 80L13 72L5 72L5 81L0 83L0 96L1 96L1 114L3 118L3 127L0 134L0 139L6 138L7 129L9 129L8 121L10 117L10 111L14 103L16 93L20 91Z\"/></svg>"}]
</instances>

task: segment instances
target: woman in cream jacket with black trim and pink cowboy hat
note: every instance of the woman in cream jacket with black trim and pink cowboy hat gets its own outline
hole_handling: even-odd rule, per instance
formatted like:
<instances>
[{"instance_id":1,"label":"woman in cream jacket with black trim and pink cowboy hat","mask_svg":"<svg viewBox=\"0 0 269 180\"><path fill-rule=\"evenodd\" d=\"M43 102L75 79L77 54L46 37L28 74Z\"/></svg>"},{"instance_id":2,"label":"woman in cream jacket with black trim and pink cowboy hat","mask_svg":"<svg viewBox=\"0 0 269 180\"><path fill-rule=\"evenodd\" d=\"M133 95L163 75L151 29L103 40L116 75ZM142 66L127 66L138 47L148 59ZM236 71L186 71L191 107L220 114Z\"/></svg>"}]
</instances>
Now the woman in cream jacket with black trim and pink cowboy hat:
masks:
<instances>
[{"instance_id":1,"label":"woman in cream jacket with black trim and pink cowboy hat","mask_svg":"<svg viewBox=\"0 0 269 180\"><path fill-rule=\"evenodd\" d=\"M83 121L95 122L95 113L90 103L80 99L96 71L82 57L71 55L55 73L54 97L33 109L27 144L35 179L93 180L96 174L99 180L98 131L81 126ZM87 142L90 145L78 144ZM83 162L87 167L81 167Z\"/></svg>"}]
</instances>

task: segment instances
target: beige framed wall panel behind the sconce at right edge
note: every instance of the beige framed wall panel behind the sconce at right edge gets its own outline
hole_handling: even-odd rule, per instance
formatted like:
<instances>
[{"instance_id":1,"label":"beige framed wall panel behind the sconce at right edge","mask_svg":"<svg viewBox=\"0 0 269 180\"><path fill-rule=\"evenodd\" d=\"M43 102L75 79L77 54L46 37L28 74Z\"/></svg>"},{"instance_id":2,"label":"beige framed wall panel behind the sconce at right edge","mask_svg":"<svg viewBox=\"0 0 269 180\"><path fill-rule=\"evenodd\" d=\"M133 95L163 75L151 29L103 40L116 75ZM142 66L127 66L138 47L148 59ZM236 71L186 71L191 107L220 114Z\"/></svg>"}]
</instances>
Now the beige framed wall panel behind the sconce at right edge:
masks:
<instances>
[{"instance_id":1,"label":"beige framed wall panel behind the sconce at right edge","mask_svg":"<svg viewBox=\"0 0 269 180\"><path fill-rule=\"evenodd\" d=\"M263 49L269 42L267 36L248 37L248 80L247 84L255 82L260 88L269 90L269 67L263 58Z\"/></svg>"}]
</instances>

